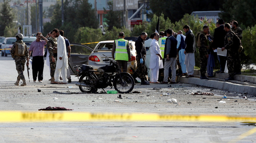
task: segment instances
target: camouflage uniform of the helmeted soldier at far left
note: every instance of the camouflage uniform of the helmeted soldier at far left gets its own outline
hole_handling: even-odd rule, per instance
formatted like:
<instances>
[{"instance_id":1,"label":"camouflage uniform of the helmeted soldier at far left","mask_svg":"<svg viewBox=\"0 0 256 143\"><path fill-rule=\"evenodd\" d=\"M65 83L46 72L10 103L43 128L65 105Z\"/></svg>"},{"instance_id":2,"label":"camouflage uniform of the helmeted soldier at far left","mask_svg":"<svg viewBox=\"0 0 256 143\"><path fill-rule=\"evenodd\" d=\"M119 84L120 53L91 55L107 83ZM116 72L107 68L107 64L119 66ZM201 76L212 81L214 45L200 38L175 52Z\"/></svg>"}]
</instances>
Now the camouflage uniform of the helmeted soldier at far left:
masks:
<instances>
[{"instance_id":1,"label":"camouflage uniform of the helmeted soldier at far left","mask_svg":"<svg viewBox=\"0 0 256 143\"><path fill-rule=\"evenodd\" d=\"M17 40L13 44L13 46L11 47L11 54L12 54L12 57L15 59L16 70L18 72L17 81L20 81L20 79L21 80L25 79L23 71L25 70L26 58L28 59L28 47L25 44L25 55L24 56L17 56L17 55L15 55L16 43L20 43L21 44L21 43L23 43L23 41L22 40ZM15 84L15 85L19 85L19 82L16 82L16 83L17 84Z\"/></svg>"}]
</instances>

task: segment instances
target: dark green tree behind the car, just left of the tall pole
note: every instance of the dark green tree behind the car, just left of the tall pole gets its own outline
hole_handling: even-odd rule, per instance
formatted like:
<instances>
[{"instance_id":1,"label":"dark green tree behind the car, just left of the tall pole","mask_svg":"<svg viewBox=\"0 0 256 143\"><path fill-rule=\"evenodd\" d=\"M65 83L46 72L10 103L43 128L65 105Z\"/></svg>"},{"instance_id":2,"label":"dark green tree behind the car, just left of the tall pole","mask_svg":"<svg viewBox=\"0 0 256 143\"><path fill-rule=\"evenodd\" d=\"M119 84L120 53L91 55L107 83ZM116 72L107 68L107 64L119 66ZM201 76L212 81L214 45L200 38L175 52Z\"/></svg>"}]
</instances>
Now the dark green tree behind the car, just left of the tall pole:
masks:
<instances>
[{"instance_id":1,"label":"dark green tree behind the car, just left of the tall pole","mask_svg":"<svg viewBox=\"0 0 256 143\"><path fill-rule=\"evenodd\" d=\"M113 11L113 1L108 1L107 5L108 5L107 9L105 7L103 7L103 9L104 9L104 12L107 13L104 15L104 18L106 18L108 30L112 30L114 26L116 28L121 28L122 11Z\"/></svg>"}]
</instances>

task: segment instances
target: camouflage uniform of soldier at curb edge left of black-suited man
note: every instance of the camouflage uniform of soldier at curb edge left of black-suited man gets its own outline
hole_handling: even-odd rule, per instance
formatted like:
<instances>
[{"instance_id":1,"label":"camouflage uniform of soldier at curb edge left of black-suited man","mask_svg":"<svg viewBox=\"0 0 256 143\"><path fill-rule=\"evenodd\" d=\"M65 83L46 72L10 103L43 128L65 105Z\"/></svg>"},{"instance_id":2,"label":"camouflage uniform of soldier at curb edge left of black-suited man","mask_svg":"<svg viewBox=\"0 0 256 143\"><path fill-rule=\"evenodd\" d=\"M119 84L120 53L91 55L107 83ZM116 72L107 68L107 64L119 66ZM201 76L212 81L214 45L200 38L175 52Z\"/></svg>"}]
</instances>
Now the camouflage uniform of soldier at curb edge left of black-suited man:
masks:
<instances>
[{"instance_id":1,"label":"camouflage uniform of soldier at curb edge left of black-suited man","mask_svg":"<svg viewBox=\"0 0 256 143\"><path fill-rule=\"evenodd\" d=\"M199 38L201 42L201 46L198 47L200 55L200 72L204 75L206 73L206 67L208 63L208 58L206 58L206 55L208 55L207 49L209 49L209 45L207 44L206 34L203 31L201 31Z\"/></svg>"}]
</instances>

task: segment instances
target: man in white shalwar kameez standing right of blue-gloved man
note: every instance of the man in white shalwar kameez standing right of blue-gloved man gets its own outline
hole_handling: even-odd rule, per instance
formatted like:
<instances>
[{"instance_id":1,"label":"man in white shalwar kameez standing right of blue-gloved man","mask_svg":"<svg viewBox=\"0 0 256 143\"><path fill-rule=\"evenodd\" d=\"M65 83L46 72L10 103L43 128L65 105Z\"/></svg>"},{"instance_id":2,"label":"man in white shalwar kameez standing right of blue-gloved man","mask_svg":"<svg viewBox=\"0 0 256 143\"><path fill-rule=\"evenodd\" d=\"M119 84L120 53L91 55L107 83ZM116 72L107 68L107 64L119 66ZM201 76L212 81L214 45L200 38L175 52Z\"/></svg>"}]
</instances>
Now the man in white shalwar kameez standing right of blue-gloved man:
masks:
<instances>
[{"instance_id":1,"label":"man in white shalwar kameez standing right of blue-gloved man","mask_svg":"<svg viewBox=\"0 0 256 143\"><path fill-rule=\"evenodd\" d=\"M158 73L159 69L163 68L163 61L162 61L162 56L161 56L161 50L158 44L159 39L159 34L154 33L154 39L151 42L151 47L150 47L150 65L149 68L151 70L151 75L150 75L150 81L151 83L160 83L158 82Z\"/></svg>"}]
</instances>

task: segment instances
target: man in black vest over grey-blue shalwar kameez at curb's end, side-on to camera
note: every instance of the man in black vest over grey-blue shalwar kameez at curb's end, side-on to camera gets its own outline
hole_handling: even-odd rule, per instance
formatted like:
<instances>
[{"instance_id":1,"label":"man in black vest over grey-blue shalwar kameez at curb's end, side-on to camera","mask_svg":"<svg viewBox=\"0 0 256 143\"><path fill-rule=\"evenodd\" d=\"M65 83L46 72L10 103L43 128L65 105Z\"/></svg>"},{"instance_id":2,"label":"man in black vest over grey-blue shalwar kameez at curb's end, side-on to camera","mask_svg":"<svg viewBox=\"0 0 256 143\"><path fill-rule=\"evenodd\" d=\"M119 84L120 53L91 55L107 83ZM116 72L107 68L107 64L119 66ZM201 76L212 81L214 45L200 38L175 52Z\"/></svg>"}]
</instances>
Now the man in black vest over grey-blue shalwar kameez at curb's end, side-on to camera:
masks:
<instances>
[{"instance_id":1,"label":"man in black vest over grey-blue shalwar kameez at curb's end, side-on to camera","mask_svg":"<svg viewBox=\"0 0 256 143\"><path fill-rule=\"evenodd\" d=\"M186 65L186 70L188 73L189 77L194 77L194 66L195 66L195 53L196 53L196 42L195 42L195 35L193 34L193 31L190 30L188 25L185 25L183 27L184 32L186 33L186 39L185 39L185 62L184 64Z\"/></svg>"}]
</instances>

